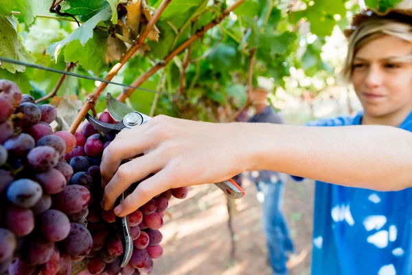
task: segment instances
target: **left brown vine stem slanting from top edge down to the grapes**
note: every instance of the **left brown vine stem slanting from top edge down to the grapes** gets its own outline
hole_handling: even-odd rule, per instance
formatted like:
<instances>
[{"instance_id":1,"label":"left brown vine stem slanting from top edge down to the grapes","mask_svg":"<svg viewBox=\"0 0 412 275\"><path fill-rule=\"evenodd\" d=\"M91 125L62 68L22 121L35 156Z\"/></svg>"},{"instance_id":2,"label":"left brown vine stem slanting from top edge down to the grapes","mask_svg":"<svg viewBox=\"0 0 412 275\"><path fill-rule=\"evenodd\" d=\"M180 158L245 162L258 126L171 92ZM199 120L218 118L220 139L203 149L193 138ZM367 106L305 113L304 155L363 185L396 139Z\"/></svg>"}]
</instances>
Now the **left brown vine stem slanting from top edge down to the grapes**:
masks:
<instances>
[{"instance_id":1,"label":"left brown vine stem slanting from top edge down to the grapes","mask_svg":"<svg viewBox=\"0 0 412 275\"><path fill-rule=\"evenodd\" d=\"M135 54L135 52L139 50L141 45L143 45L146 36L148 36L150 30L152 30L153 26L155 25L157 19L159 19L162 12L170 4L171 1L172 0L163 0L161 2L159 8L156 10L155 14L153 14L152 18L148 22L148 25L146 25L146 28L144 28L144 31L140 34L139 38L136 40L133 46L130 47L130 49L122 56L122 58L120 58L119 63L117 63L111 68L110 72L108 72L104 80L112 80L113 77L117 74L117 72L119 72L119 69L121 69L123 65L133 56L133 54ZM76 132L76 129L78 129L78 126L82 122L84 116L86 116L89 110L95 106L104 88L106 88L107 84L108 83L101 83L99 87L95 89L95 91L93 91L93 94L87 96L86 102L84 102L82 109L80 109L78 115L76 116L76 118L70 126L70 133Z\"/></svg>"}]
</instances>

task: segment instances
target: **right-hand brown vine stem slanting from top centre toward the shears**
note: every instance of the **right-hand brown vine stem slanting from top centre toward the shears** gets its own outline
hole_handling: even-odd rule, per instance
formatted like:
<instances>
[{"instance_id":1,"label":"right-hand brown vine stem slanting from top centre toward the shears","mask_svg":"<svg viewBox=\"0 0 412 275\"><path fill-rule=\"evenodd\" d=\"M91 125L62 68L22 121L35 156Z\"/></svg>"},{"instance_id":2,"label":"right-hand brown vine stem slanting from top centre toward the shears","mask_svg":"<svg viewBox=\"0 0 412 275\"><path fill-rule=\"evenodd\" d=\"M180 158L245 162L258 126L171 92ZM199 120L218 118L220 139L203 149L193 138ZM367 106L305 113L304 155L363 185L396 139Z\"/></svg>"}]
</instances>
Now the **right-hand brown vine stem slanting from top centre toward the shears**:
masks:
<instances>
[{"instance_id":1,"label":"right-hand brown vine stem slanting from top centre toward the shears","mask_svg":"<svg viewBox=\"0 0 412 275\"><path fill-rule=\"evenodd\" d=\"M181 45L179 45L179 47L176 47L176 49L174 49L172 52L170 52L170 54L168 56L166 56L163 61L160 61L159 63L157 63L157 65L155 65L154 67L151 67L146 73L142 74L141 76L139 76L139 78L137 78L133 84L131 84L134 87L139 87L141 85L141 83L144 83L148 78L150 78L150 76L152 76L153 74L155 74L155 72L157 72L159 69L161 69L162 67L165 67L165 65L168 65L168 63L170 61L172 61L172 59L174 58L174 56L180 54L183 50L185 50L185 48L187 46L189 46L190 44L192 44L194 41L196 41L196 39L200 38L201 36L203 36L203 34L205 34L205 32L207 32L207 30L213 28L215 25L218 25L218 23L220 23L223 19L225 19L225 17L227 17L230 12L232 12L233 10L235 10L236 8L238 8L239 5L241 5L244 2L244 0L238 0L235 3L233 3L233 5L231 5L229 8L227 8L225 10L225 12L223 12L219 18L214 19L213 21L209 22L207 25L205 25L201 30L197 30L196 33L191 36L189 39L185 40L185 42L181 43ZM133 94L133 91L135 91L135 89L133 88L127 88L125 89L122 94L120 94L117 97L117 100L123 102L124 100L126 100L126 98L128 98L131 94Z\"/></svg>"}]
</instances>

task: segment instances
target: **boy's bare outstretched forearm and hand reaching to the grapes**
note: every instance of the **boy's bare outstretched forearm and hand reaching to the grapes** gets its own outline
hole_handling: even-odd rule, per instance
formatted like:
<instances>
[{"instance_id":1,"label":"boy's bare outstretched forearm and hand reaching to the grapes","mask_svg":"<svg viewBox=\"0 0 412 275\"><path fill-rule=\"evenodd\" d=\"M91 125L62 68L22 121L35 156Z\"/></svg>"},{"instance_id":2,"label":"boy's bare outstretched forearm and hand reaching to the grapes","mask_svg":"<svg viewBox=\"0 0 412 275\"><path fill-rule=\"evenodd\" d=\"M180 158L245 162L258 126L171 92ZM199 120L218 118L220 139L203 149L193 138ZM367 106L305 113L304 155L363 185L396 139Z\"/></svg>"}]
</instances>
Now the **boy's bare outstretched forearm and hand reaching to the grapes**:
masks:
<instances>
[{"instance_id":1,"label":"boy's bare outstretched forearm and hand reaching to the grapes","mask_svg":"<svg viewBox=\"0 0 412 275\"><path fill-rule=\"evenodd\" d=\"M143 156L122 164L127 159ZM412 186L412 135L390 126L215 124L159 115L119 133L101 164L104 208L143 179L123 216L170 188L218 182L244 170L275 170L375 190Z\"/></svg>"}]
</instances>

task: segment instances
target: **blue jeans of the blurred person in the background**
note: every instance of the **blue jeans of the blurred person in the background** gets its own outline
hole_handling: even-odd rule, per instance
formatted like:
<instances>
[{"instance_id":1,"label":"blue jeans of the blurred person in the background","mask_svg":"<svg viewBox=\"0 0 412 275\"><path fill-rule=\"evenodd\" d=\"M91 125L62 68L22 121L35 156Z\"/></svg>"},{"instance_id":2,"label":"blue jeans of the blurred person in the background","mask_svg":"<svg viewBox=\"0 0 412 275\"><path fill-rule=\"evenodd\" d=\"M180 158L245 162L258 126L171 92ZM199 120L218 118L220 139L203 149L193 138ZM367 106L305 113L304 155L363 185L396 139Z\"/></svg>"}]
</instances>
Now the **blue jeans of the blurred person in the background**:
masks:
<instances>
[{"instance_id":1,"label":"blue jeans of the blurred person in the background","mask_svg":"<svg viewBox=\"0 0 412 275\"><path fill-rule=\"evenodd\" d=\"M294 252L293 242L289 237L289 230L282 213L282 198L284 184L282 181L259 181L256 184L258 192L263 195L263 230L268 247L268 260L273 274L287 275L287 252Z\"/></svg>"}]
</instances>

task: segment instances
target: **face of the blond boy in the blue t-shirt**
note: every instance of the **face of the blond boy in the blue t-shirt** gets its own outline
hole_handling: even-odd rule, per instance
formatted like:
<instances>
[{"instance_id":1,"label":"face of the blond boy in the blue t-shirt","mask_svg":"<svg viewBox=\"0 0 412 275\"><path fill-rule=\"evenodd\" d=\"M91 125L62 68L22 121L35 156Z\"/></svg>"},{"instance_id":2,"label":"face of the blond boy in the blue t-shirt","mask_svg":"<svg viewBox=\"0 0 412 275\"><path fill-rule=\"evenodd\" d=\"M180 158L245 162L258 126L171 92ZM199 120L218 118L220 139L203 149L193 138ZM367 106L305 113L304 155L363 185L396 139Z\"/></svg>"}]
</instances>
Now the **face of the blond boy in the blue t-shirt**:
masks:
<instances>
[{"instance_id":1,"label":"face of the blond boy in the blue t-shirt","mask_svg":"<svg viewBox=\"0 0 412 275\"><path fill-rule=\"evenodd\" d=\"M412 111L412 43L395 36L380 36L354 56L352 83L365 115L382 117Z\"/></svg>"}]
</instances>

